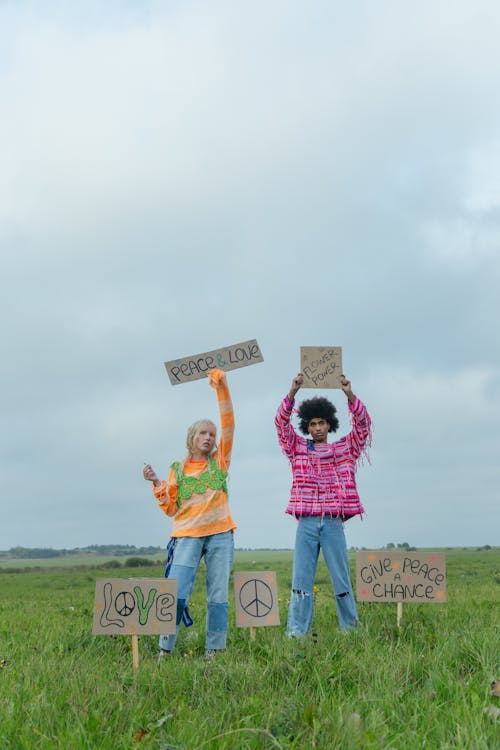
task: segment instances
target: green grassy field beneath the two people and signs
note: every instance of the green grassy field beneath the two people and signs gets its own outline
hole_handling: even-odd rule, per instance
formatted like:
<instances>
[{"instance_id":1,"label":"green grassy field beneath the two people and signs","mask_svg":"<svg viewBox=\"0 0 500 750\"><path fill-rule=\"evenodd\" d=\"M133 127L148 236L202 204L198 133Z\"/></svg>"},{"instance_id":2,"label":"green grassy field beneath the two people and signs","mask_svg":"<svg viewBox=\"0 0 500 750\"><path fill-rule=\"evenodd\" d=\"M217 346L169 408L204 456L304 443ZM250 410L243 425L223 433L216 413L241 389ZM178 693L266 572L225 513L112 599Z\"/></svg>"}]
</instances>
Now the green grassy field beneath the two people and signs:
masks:
<instances>
[{"instance_id":1,"label":"green grassy field beneath the two people and signs","mask_svg":"<svg viewBox=\"0 0 500 750\"><path fill-rule=\"evenodd\" d=\"M320 564L312 638L283 625L255 641L231 621L228 648L207 662L202 570L195 619L156 665L156 637L92 636L97 577L159 577L158 565L0 573L0 748L496 748L500 550L447 550L448 603L362 604L340 633ZM33 561L30 561L33 563ZM291 553L238 552L235 568L276 570L286 622ZM234 617L231 607L231 617Z\"/></svg>"}]
</instances>

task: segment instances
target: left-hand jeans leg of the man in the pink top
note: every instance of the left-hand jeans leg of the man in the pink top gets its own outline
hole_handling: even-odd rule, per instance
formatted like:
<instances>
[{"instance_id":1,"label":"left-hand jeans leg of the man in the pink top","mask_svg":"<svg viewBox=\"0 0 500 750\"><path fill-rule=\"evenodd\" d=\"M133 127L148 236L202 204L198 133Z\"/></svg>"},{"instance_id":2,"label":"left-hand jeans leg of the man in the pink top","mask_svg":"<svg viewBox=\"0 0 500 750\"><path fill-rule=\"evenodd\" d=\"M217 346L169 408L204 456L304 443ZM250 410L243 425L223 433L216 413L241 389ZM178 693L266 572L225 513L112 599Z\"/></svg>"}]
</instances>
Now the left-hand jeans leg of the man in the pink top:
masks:
<instances>
[{"instance_id":1,"label":"left-hand jeans leg of the man in the pink top","mask_svg":"<svg viewBox=\"0 0 500 750\"><path fill-rule=\"evenodd\" d=\"M316 516L304 516L297 523L287 623L290 636L303 636L311 627L314 576L319 555L319 525L320 519Z\"/></svg>"}]
</instances>

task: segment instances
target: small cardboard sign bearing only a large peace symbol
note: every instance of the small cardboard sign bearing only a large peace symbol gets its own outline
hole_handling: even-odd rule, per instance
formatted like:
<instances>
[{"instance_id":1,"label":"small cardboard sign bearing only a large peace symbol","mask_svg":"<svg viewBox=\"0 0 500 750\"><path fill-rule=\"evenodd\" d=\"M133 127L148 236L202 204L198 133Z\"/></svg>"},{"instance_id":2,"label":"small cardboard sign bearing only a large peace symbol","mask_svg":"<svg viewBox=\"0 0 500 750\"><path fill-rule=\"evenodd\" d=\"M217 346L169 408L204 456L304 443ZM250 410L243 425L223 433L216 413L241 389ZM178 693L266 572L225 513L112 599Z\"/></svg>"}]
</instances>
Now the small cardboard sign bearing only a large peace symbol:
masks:
<instances>
[{"instance_id":1,"label":"small cardboard sign bearing only a large peace symbol","mask_svg":"<svg viewBox=\"0 0 500 750\"><path fill-rule=\"evenodd\" d=\"M278 585L273 570L234 574L236 625L239 628L279 625Z\"/></svg>"}]
</instances>

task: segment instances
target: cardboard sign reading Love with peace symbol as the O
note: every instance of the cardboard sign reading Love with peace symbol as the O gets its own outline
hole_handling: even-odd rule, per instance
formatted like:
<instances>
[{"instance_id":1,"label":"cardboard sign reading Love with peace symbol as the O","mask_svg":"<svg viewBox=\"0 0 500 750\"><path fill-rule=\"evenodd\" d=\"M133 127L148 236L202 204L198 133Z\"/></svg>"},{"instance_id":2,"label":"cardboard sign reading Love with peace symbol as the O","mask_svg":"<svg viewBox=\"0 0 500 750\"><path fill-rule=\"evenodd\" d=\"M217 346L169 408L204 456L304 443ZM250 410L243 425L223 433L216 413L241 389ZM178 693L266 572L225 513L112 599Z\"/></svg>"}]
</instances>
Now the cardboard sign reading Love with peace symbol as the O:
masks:
<instances>
[{"instance_id":1,"label":"cardboard sign reading Love with peace symbol as the O","mask_svg":"<svg viewBox=\"0 0 500 750\"><path fill-rule=\"evenodd\" d=\"M175 633L177 581L172 578L98 578L94 635Z\"/></svg>"}]
</instances>

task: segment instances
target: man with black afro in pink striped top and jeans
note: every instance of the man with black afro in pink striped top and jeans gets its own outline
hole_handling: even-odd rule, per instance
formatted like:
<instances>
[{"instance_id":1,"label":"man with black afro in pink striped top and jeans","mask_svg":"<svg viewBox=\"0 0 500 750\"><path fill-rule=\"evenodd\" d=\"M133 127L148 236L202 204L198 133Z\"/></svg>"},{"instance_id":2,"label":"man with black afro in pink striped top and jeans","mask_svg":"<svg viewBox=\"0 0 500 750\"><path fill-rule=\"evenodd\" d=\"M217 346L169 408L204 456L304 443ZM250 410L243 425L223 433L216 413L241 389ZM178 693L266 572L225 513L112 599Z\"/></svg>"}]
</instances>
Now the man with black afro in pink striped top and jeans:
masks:
<instances>
[{"instance_id":1,"label":"man with black afro in pink striped top and jeans","mask_svg":"<svg viewBox=\"0 0 500 750\"><path fill-rule=\"evenodd\" d=\"M292 467L286 512L298 521L287 630L289 636L299 638L308 632L313 619L314 576L320 549L332 579L340 628L353 628L358 622L344 522L363 513L356 466L371 440L370 416L344 375L340 382L347 396L351 432L328 443L328 433L336 432L339 426L337 410L328 399L317 396L303 401L297 410L300 430L308 439L298 435L290 419L303 381L302 373L292 380L275 419L281 449Z\"/></svg>"}]
</instances>

